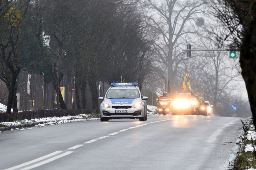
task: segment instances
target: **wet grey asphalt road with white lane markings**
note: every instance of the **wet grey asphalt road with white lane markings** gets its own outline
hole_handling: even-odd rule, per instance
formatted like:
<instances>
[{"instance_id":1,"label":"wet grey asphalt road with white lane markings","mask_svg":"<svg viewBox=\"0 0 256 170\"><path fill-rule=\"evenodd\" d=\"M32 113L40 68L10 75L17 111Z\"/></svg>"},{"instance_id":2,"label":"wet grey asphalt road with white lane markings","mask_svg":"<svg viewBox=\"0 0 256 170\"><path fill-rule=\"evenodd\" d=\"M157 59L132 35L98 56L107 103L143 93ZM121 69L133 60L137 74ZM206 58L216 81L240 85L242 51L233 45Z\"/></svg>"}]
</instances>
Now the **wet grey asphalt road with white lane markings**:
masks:
<instances>
[{"instance_id":1,"label":"wet grey asphalt road with white lane markings","mask_svg":"<svg viewBox=\"0 0 256 170\"><path fill-rule=\"evenodd\" d=\"M166 115L4 132L0 169L229 169L240 119Z\"/></svg>"}]
</instances>

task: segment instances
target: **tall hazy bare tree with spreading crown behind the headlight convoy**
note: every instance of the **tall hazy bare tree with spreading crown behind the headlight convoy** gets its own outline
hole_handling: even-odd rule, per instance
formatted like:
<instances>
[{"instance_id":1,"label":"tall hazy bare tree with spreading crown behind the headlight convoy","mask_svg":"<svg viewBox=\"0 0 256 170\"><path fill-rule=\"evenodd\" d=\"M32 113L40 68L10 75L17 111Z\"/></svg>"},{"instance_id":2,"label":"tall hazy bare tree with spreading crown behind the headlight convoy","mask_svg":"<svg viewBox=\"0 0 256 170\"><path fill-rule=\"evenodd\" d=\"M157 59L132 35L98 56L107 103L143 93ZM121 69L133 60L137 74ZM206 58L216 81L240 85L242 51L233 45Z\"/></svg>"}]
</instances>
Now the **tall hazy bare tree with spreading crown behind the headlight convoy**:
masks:
<instances>
[{"instance_id":1,"label":"tall hazy bare tree with spreading crown behind the headlight convoy","mask_svg":"<svg viewBox=\"0 0 256 170\"><path fill-rule=\"evenodd\" d=\"M170 80L171 93L174 93L174 80L177 76L177 68L180 64L180 57L184 52L175 51L175 48L186 44L180 43L179 39L188 34L196 33L193 24L196 25L197 14L203 14L208 10L204 1L153 1L145 0L147 7L145 19L148 26L151 26L159 35L155 44L156 57L162 62L163 68L168 68L168 80ZM184 48L183 48L184 49Z\"/></svg>"}]
</instances>

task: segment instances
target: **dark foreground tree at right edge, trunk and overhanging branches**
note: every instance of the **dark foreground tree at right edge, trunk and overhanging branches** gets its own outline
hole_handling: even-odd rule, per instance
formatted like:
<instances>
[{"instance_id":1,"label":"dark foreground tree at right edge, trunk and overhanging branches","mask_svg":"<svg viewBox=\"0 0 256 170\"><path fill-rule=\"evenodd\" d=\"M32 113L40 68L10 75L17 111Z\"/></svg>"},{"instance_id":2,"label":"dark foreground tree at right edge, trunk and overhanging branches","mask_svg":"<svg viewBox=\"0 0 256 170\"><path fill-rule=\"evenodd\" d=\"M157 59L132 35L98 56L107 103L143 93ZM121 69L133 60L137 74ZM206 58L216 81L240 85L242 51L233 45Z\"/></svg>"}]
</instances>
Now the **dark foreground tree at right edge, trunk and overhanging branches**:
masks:
<instances>
[{"instance_id":1,"label":"dark foreground tree at right edge, trunk and overhanging branches","mask_svg":"<svg viewBox=\"0 0 256 170\"><path fill-rule=\"evenodd\" d=\"M225 0L212 1L217 16L223 21L233 41L240 49L242 76L248 93L248 99L256 126L256 3L254 1Z\"/></svg>"}]
</instances>

